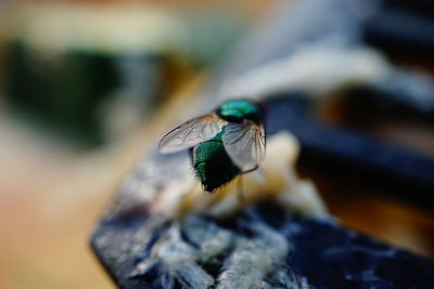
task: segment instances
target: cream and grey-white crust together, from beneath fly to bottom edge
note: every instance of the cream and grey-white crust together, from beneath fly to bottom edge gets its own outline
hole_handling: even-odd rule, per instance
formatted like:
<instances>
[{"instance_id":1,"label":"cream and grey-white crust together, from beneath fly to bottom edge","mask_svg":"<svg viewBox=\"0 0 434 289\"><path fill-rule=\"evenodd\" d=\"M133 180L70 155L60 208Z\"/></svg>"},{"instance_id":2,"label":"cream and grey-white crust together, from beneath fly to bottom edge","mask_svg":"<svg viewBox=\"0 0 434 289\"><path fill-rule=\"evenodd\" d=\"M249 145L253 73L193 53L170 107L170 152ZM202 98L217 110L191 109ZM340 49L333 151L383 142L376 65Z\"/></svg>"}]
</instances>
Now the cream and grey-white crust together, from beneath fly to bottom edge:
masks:
<instances>
[{"instance_id":1,"label":"cream and grey-white crust together, from beneath fly to bottom edge","mask_svg":"<svg viewBox=\"0 0 434 289\"><path fill-rule=\"evenodd\" d=\"M149 253L130 276L158 267L154 277L164 276L165 288L309 288L288 267L292 244L253 209L268 201L288 216L329 218L315 186L295 172L298 150L286 132L270 137L260 170L242 175L242 198L237 184L203 192L187 154L144 162L124 184L111 218L146 214L154 226L148 235L164 233L143 247Z\"/></svg>"}]
</instances>

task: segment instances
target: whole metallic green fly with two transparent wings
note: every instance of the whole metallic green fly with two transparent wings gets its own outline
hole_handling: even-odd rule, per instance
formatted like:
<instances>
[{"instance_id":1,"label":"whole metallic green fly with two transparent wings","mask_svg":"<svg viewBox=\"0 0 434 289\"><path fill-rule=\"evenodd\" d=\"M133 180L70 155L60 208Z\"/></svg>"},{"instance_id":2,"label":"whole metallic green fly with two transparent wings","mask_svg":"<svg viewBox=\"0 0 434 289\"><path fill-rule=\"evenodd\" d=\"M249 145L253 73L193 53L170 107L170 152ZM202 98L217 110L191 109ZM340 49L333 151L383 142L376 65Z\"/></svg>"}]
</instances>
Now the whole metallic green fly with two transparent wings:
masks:
<instances>
[{"instance_id":1,"label":"whole metallic green fly with two transparent wings","mask_svg":"<svg viewBox=\"0 0 434 289\"><path fill-rule=\"evenodd\" d=\"M265 110L251 100L230 100L184 122L159 142L159 152L190 148L196 176L207 192L258 168L265 156Z\"/></svg>"}]
</instances>

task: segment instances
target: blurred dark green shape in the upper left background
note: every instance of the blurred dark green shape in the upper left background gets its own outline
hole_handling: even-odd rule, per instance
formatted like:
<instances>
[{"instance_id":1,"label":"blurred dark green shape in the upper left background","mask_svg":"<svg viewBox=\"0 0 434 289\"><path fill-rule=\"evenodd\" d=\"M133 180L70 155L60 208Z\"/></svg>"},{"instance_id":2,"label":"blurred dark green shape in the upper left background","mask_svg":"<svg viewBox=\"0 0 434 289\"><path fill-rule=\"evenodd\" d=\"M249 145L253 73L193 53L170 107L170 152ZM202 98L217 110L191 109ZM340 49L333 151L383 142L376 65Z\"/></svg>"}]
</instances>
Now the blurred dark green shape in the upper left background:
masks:
<instances>
[{"instance_id":1,"label":"blurred dark green shape in the upper left background","mask_svg":"<svg viewBox=\"0 0 434 289\"><path fill-rule=\"evenodd\" d=\"M13 41L8 55L5 90L9 103L48 124L58 134L90 144L104 141L106 111L102 108L111 100L122 96L116 95L117 90L126 86L122 60L131 57L155 74L159 73L164 62L156 55L127 56L94 51L72 50L44 55L22 41ZM138 79L144 83L149 80ZM155 83L148 84L157 86L158 78L154 80ZM146 92L153 94L146 95ZM156 89L137 93L141 94L139 98L159 96ZM144 102L137 100L137 104L144 105ZM142 108L143 111L146 109Z\"/></svg>"}]
</instances>

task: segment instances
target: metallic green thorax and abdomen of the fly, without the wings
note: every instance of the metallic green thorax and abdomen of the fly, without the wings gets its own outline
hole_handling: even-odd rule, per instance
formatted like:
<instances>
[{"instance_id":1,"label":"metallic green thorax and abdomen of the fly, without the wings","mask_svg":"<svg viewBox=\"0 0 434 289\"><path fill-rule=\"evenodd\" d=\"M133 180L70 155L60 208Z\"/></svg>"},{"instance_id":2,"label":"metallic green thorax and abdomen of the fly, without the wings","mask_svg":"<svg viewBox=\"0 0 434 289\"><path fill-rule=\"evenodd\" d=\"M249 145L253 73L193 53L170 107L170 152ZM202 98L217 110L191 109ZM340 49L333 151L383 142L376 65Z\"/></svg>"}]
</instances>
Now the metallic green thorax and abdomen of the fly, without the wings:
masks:
<instances>
[{"instance_id":1,"label":"metallic green thorax and abdomen of the fly, without the wings","mask_svg":"<svg viewBox=\"0 0 434 289\"><path fill-rule=\"evenodd\" d=\"M231 100L221 104L216 114L229 122L242 122L243 119L256 123L264 122L264 111L248 100ZM196 176L207 192L213 192L232 181L241 173L225 149L221 135L225 128L213 139L202 142L192 149L192 165Z\"/></svg>"}]
</instances>

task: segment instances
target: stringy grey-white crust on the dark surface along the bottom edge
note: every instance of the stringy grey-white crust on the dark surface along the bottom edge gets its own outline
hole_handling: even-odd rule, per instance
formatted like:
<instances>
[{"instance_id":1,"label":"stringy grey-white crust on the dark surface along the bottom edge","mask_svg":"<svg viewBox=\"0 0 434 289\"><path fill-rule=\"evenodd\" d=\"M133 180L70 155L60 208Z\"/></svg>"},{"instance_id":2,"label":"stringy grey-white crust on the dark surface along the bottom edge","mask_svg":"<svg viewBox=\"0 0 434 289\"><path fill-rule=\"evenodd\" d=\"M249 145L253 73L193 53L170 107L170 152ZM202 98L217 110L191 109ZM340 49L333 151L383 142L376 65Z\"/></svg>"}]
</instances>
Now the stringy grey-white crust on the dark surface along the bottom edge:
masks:
<instances>
[{"instance_id":1,"label":"stringy grey-white crust on the dark surface along the bottom edge","mask_svg":"<svg viewBox=\"0 0 434 289\"><path fill-rule=\"evenodd\" d=\"M167 288L176 283L192 289L310 288L286 266L292 246L282 234L254 213L241 223L250 234L201 215L175 221L130 276L144 276L158 264L159 275L169 276Z\"/></svg>"}]
</instances>

